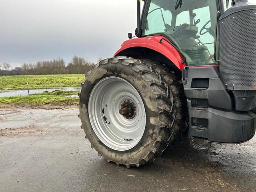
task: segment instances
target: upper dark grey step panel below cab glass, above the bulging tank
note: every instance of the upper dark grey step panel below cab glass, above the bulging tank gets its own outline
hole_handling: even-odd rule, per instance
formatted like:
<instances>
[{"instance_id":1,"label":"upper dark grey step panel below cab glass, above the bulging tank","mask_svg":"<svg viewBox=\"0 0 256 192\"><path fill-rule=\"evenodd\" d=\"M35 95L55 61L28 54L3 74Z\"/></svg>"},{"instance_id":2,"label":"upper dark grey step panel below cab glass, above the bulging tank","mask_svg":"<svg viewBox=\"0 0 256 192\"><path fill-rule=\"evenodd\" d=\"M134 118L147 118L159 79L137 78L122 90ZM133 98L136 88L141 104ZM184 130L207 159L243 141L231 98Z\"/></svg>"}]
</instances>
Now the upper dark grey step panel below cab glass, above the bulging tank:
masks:
<instances>
[{"instance_id":1,"label":"upper dark grey step panel below cab glass, above the bulging tank","mask_svg":"<svg viewBox=\"0 0 256 192\"><path fill-rule=\"evenodd\" d=\"M185 67L182 73L185 75L183 86L189 100L207 99L208 107L231 111L231 98L220 81L218 67Z\"/></svg>"}]
</instances>

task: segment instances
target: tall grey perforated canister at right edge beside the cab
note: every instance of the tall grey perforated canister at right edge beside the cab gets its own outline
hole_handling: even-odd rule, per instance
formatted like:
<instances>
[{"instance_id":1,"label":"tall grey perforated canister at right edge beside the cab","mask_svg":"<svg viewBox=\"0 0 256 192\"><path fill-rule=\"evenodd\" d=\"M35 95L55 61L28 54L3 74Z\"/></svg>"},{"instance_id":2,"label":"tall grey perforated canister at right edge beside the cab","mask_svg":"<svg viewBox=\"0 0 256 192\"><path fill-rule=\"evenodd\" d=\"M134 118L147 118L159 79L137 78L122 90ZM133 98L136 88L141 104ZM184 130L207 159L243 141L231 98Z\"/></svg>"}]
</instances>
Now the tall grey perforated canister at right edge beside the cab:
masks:
<instances>
[{"instance_id":1,"label":"tall grey perforated canister at right edge beside the cab","mask_svg":"<svg viewBox=\"0 0 256 192\"><path fill-rule=\"evenodd\" d=\"M256 4L236 0L219 19L220 77L236 110L256 107Z\"/></svg>"}]
</instances>

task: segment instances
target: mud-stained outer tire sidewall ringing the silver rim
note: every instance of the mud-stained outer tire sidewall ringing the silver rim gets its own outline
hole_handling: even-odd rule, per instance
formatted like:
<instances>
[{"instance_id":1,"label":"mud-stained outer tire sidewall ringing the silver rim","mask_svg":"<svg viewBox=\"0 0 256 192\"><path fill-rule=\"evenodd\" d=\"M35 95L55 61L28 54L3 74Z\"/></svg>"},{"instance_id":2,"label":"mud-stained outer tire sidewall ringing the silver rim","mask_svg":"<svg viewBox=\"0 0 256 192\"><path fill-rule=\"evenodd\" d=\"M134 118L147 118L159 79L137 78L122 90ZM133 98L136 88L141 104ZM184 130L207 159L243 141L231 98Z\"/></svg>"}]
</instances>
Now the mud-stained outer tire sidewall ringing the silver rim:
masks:
<instances>
[{"instance_id":1,"label":"mud-stained outer tire sidewall ringing the silver rim","mask_svg":"<svg viewBox=\"0 0 256 192\"><path fill-rule=\"evenodd\" d=\"M157 139L157 137L155 138L154 134L152 133L154 133L155 129L158 127L158 107L154 97L152 98L151 96L151 90L148 82L145 81L138 72L135 72L129 66L112 63L101 65L95 70L92 70L91 74L87 76L81 90L80 106L84 105L88 110L88 101L92 89L100 80L109 76L120 77L130 82L136 88L142 98L142 101L144 102L144 107L146 110L146 127L140 142L130 150L112 150L104 145L96 136L90 124L88 112L86 112L82 120L84 121L84 124L86 124L86 138L90 140L92 147L98 151L99 155L104 156L108 160L112 160L112 154L114 154L116 156L115 159L118 160L118 163L122 163L126 161L127 158L131 158L134 153L141 151L143 148L145 149L146 146L151 149L149 145L153 144L153 142Z\"/></svg>"}]
</instances>

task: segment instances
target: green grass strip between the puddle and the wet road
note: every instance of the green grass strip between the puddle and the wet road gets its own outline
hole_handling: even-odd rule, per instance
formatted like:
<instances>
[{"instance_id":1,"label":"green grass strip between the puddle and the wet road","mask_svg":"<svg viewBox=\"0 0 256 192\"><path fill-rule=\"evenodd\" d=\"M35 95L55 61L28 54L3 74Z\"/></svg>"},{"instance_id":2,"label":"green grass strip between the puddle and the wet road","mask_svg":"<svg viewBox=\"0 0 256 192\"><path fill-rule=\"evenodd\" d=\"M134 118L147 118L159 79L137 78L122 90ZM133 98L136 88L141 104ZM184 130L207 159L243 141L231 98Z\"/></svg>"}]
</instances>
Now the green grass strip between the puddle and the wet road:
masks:
<instances>
[{"instance_id":1,"label":"green grass strip between the puddle and the wet road","mask_svg":"<svg viewBox=\"0 0 256 192\"><path fill-rule=\"evenodd\" d=\"M60 91L54 90L52 92L45 91L40 94L32 94L28 96L12 96L12 97L0 97L0 103L52 103L52 102L78 102L79 98L67 97L70 95L78 94L76 91Z\"/></svg>"}]
</instances>

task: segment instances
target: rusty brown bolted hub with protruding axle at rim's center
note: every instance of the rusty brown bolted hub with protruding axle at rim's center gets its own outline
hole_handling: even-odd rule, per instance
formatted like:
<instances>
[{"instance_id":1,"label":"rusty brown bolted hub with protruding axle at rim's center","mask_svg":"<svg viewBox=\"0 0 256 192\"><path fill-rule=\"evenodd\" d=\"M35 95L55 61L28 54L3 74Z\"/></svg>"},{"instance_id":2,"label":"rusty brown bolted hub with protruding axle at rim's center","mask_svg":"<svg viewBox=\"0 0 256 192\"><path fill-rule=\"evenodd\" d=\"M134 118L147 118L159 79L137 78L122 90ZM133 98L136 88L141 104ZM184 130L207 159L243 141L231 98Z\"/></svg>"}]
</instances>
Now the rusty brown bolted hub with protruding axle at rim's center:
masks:
<instances>
[{"instance_id":1,"label":"rusty brown bolted hub with protruding axle at rim's center","mask_svg":"<svg viewBox=\"0 0 256 192\"><path fill-rule=\"evenodd\" d=\"M135 103L131 100L124 100L121 104L119 113L126 119L133 119L137 114Z\"/></svg>"}]
</instances>

